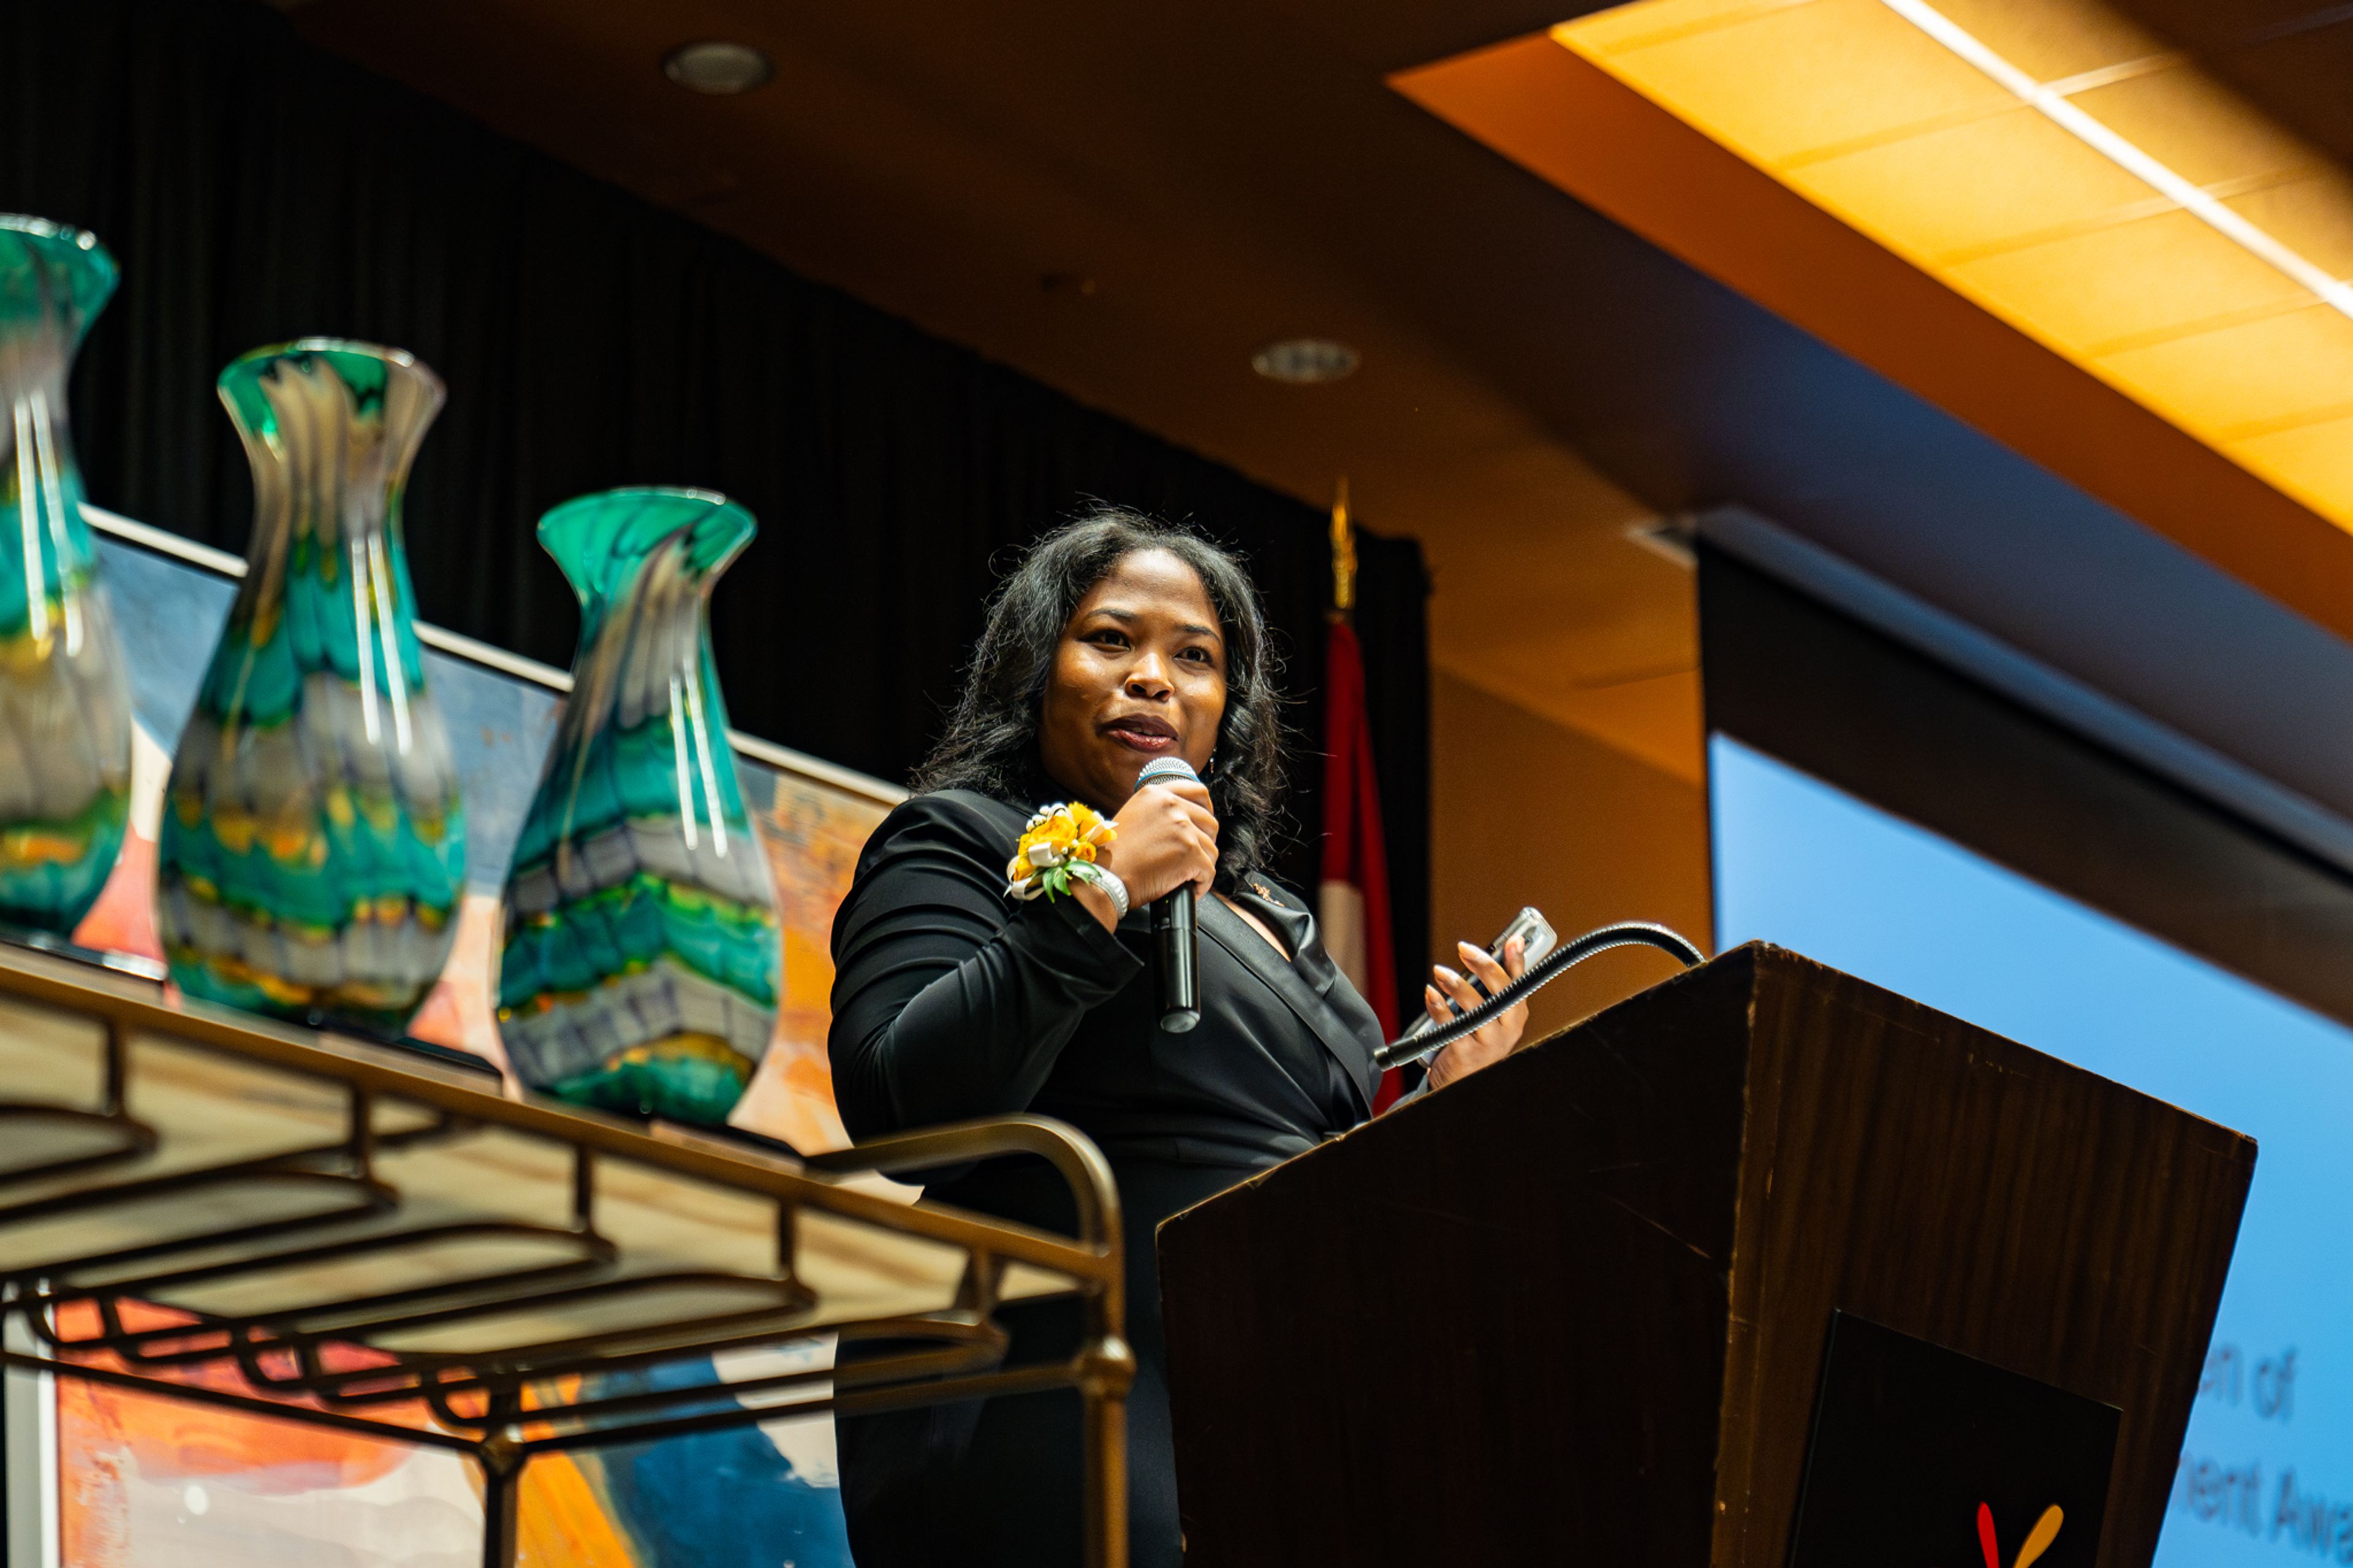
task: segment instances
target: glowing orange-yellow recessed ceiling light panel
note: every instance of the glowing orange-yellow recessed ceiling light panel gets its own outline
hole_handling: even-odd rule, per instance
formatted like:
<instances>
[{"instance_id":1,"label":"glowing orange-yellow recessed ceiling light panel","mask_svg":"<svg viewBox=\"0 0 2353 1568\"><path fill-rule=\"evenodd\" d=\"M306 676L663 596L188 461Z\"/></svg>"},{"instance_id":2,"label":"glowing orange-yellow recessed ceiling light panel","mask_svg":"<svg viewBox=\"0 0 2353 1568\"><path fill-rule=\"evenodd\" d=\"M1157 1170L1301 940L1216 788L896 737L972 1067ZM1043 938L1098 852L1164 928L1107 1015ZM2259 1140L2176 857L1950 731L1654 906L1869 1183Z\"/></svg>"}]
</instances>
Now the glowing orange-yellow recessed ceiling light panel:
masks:
<instances>
[{"instance_id":1,"label":"glowing orange-yellow recessed ceiling light panel","mask_svg":"<svg viewBox=\"0 0 2353 1568\"><path fill-rule=\"evenodd\" d=\"M2353 636L2353 181L2092 0L1640 0L1391 82Z\"/></svg>"}]
</instances>

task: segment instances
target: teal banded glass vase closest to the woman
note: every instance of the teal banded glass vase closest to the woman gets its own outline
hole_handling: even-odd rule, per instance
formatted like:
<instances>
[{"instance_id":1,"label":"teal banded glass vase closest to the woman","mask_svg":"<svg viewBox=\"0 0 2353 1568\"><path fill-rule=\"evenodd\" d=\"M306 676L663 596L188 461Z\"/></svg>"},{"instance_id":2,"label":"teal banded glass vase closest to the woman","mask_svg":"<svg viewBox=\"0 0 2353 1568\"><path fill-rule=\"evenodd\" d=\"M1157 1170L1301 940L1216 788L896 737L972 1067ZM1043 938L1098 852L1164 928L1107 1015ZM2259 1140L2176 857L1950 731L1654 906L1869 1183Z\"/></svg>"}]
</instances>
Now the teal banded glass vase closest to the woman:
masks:
<instances>
[{"instance_id":1,"label":"teal banded glass vase closest to the woman","mask_svg":"<svg viewBox=\"0 0 2353 1568\"><path fill-rule=\"evenodd\" d=\"M576 1104L718 1125L776 1024L776 885L711 666L711 589L753 532L704 490L539 520L581 640L506 881L499 1038Z\"/></svg>"}]
</instances>

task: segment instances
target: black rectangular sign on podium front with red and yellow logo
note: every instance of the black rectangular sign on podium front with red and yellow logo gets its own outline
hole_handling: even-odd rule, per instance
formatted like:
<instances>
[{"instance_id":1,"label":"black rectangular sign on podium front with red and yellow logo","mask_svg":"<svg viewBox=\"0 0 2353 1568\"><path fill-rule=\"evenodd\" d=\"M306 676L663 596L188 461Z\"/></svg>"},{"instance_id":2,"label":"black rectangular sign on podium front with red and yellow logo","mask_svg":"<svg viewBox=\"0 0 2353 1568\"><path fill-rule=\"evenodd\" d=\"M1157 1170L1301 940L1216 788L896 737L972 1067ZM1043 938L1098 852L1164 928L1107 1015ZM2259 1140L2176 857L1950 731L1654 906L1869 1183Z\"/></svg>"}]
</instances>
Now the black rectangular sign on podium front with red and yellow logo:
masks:
<instances>
[{"instance_id":1,"label":"black rectangular sign on podium front with red and yellow logo","mask_svg":"<svg viewBox=\"0 0 2353 1568\"><path fill-rule=\"evenodd\" d=\"M2092 1568L2122 1410L1845 1311L1791 1568Z\"/></svg>"}]
</instances>

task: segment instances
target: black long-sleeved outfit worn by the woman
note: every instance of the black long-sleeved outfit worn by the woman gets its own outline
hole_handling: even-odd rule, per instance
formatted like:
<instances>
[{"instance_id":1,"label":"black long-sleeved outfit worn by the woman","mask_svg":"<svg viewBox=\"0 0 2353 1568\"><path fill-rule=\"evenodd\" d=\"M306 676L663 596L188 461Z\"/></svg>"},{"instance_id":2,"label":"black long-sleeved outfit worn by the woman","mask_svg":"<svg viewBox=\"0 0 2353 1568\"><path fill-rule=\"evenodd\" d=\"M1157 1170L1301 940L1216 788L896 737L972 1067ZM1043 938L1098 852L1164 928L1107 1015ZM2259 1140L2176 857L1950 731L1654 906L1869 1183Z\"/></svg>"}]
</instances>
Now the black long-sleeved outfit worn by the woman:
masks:
<instances>
[{"instance_id":1,"label":"black long-sleeved outfit worn by the woman","mask_svg":"<svg viewBox=\"0 0 2353 1568\"><path fill-rule=\"evenodd\" d=\"M1087 1132L1120 1182L1127 1236L1134 1568L1181 1561L1153 1229L1365 1121L1381 1026L1299 897L1249 876L1200 902L1200 1024L1162 1034L1146 913L1106 932L1078 899L1016 904L1005 864L1028 808L915 796L859 857L833 918L833 1092L852 1137L1038 1111ZM1068 1231L1040 1161L932 1187L941 1203ZM1068 1354L1068 1302L1009 1309L1012 1354ZM840 1424L842 1504L861 1568L1080 1561L1078 1396L1026 1394Z\"/></svg>"}]
</instances>

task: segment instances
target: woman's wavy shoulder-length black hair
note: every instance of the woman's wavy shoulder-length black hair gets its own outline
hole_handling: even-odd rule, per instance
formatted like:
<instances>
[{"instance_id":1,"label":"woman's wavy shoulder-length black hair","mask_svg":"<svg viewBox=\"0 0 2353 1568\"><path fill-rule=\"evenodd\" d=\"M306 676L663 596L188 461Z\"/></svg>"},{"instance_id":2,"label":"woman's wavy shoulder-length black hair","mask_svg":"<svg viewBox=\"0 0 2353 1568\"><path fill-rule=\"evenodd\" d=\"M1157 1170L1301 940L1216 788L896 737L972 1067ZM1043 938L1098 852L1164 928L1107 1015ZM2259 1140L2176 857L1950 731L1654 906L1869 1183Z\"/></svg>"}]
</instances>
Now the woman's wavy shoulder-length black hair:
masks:
<instances>
[{"instance_id":1,"label":"woman's wavy shoulder-length black hair","mask_svg":"<svg viewBox=\"0 0 2353 1568\"><path fill-rule=\"evenodd\" d=\"M976 789L1021 808L1066 793L1038 758L1045 683L1078 600L1136 551L1167 551L1193 567L1226 640L1226 718L1205 782L1217 805L1217 876L1233 885L1273 855L1282 810L1282 716L1266 614L1233 556L1125 506L1064 523L998 586L965 671L965 695L948 713L948 732L915 770L915 791Z\"/></svg>"}]
</instances>

